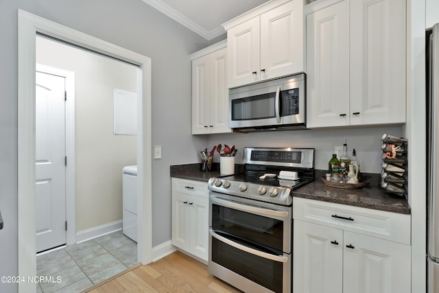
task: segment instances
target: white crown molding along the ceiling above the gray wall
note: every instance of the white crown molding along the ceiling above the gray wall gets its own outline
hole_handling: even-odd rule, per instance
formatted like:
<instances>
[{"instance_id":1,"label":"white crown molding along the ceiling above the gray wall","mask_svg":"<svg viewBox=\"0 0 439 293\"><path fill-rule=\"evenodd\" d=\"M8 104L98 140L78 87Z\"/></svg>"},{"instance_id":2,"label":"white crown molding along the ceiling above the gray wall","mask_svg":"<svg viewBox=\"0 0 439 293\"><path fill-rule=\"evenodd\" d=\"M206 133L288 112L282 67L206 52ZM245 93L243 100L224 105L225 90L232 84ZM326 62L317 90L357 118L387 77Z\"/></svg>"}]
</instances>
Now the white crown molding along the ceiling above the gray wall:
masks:
<instances>
[{"instance_id":1,"label":"white crown molding along the ceiling above the gray wall","mask_svg":"<svg viewBox=\"0 0 439 293\"><path fill-rule=\"evenodd\" d=\"M211 40L213 38L216 38L217 36L221 36L226 32L224 30L224 27L222 26L219 26L215 30L211 30L209 32L208 30L205 30L203 27L200 27L200 25L191 21L191 19L188 19L186 16L184 16L174 8L171 8L171 6L163 3L161 0L142 0L142 1L152 6L156 10L162 12L163 14L170 17L171 19L174 19L174 21L180 23L180 25L184 25L189 30L195 32L195 34L202 36L206 40Z\"/></svg>"}]
</instances>

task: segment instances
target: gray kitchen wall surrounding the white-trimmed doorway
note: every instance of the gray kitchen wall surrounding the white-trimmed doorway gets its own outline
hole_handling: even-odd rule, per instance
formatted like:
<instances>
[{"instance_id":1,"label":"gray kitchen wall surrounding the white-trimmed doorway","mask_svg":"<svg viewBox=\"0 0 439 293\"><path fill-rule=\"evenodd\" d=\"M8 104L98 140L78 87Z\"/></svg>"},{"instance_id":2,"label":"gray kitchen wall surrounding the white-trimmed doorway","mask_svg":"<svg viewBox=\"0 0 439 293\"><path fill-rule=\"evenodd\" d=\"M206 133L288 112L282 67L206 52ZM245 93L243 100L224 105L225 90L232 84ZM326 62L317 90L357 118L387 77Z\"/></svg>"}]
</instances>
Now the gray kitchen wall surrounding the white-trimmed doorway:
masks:
<instances>
[{"instance_id":1,"label":"gray kitchen wall surrounding the white-trimmed doorway","mask_svg":"<svg viewBox=\"0 0 439 293\"><path fill-rule=\"evenodd\" d=\"M152 58L153 246L171 239L169 165L193 163L207 138L191 136L189 54L210 45L141 0L0 0L0 275L17 268L17 9ZM152 155L152 154L150 154ZM16 285L0 283L0 292Z\"/></svg>"}]
</instances>

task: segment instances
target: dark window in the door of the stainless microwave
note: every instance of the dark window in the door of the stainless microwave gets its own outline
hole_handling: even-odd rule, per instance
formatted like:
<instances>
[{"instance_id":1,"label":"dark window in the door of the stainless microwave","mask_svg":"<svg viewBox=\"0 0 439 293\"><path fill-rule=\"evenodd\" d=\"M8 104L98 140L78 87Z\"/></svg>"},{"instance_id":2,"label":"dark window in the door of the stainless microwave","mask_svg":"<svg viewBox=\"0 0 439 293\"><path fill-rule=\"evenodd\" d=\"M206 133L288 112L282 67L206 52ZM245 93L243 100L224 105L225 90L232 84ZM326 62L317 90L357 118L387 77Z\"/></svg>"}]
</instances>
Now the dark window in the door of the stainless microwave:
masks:
<instances>
[{"instance_id":1,"label":"dark window in the door of the stainless microwave","mask_svg":"<svg viewBox=\"0 0 439 293\"><path fill-rule=\"evenodd\" d=\"M232 120L275 118L276 93L255 95L232 100Z\"/></svg>"}]
</instances>

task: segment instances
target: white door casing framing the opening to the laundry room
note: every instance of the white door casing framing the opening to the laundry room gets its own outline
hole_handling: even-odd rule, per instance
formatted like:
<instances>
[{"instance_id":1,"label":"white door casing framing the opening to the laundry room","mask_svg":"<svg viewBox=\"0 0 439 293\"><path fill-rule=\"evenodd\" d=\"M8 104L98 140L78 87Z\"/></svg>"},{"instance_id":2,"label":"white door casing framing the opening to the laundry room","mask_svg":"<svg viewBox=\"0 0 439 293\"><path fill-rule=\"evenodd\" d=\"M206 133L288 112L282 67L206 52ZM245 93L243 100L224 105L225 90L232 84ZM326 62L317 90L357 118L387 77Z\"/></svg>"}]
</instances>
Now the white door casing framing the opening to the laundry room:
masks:
<instances>
[{"instance_id":1,"label":"white door casing framing the opening to the laundry room","mask_svg":"<svg viewBox=\"0 0 439 293\"><path fill-rule=\"evenodd\" d=\"M79 47L132 63L137 69L138 105L138 259L152 261L152 148L151 148L151 60L92 36L19 10L19 275L36 275L35 231L35 39L45 34ZM31 292L35 284L19 283L19 292Z\"/></svg>"}]
</instances>

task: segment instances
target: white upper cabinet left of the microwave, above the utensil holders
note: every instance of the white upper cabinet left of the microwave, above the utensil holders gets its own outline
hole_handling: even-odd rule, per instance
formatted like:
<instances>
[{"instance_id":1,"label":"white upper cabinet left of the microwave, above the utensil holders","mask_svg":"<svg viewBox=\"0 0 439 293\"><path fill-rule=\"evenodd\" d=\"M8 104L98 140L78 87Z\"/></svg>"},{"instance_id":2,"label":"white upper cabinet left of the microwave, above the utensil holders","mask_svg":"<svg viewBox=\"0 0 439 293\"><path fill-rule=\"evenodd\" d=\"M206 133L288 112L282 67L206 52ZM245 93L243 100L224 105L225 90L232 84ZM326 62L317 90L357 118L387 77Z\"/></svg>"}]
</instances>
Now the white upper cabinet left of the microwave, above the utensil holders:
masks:
<instances>
[{"instance_id":1,"label":"white upper cabinet left of the microwave, above the utensil holders","mask_svg":"<svg viewBox=\"0 0 439 293\"><path fill-rule=\"evenodd\" d=\"M228 128L226 42L191 55L192 134L232 132Z\"/></svg>"}]
</instances>

